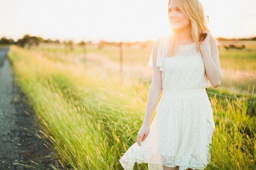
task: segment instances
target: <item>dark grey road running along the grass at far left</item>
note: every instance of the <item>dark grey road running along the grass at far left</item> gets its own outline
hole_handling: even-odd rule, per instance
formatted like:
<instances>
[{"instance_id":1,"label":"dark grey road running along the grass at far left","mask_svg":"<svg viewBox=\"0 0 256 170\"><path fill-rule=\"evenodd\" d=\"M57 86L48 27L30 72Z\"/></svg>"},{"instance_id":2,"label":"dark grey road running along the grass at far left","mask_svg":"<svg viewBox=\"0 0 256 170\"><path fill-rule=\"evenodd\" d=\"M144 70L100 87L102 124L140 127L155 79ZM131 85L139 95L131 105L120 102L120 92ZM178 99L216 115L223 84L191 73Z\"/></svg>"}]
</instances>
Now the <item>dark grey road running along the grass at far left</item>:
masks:
<instances>
[{"instance_id":1,"label":"dark grey road running along the grass at far left","mask_svg":"<svg viewBox=\"0 0 256 170\"><path fill-rule=\"evenodd\" d=\"M0 47L0 170L27 170L28 164L38 170L59 167L53 153L35 134L42 130L27 97L14 81L7 57L9 47ZM33 160L36 163L33 163ZM30 168L31 169L31 168Z\"/></svg>"}]
</instances>

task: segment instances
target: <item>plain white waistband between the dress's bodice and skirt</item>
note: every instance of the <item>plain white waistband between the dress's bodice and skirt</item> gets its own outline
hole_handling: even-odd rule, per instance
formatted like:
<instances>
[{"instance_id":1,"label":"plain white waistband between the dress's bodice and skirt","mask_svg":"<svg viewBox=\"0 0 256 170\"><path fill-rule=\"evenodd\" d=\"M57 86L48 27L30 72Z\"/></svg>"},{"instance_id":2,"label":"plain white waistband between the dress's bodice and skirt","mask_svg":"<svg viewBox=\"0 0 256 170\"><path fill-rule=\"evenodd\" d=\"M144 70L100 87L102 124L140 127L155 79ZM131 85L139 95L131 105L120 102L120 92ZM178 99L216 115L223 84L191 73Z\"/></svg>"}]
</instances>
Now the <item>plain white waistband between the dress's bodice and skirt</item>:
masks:
<instances>
[{"instance_id":1,"label":"plain white waistband between the dress's bodice and skirt","mask_svg":"<svg viewBox=\"0 0 256 170\"><path fill-rule=\"evenodd\" d=\"M205 96L207 95L205 88L183 89L183 90L164 90L163 96L169 97L189 97L189 96Z\"/></svg>"}]
</instances>

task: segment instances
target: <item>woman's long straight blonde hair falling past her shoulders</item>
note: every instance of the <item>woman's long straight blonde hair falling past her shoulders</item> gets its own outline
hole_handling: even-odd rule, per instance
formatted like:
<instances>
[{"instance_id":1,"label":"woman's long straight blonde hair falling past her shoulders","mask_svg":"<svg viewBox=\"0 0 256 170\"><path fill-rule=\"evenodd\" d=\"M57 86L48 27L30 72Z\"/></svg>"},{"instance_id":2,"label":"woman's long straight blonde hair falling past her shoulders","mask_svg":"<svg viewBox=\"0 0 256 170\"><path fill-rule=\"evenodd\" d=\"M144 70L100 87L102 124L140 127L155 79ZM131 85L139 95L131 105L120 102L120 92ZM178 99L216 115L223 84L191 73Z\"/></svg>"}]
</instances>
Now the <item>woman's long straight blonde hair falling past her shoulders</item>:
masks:
<instances>
[{"instance_id":1,"label":"woman's long straight blonde hair falling past her shoulders","mask_svg":"<svg viewBox=\"0 0 256 170\"><path fill-rule=\"evenodd\" d=\"M201 40L202 35L200 34L203 31L207 31L210 33L210 38L213 38L217 44L218 41L212 36L211 31L209 30L209 23L207 17L204 13L204 7L200 3L199 0L173 0L180 11L185 14L189 20L191 20L191 34L195 44L198 46L198 49L201 52L199 47L199 42ZM168 8L171 0L168 2ZM169 36L169 48L167 50L167 56L175 55L178 46L178 31L173 30ZM202 54L202 53L201 53Z\"/></svg>"}]
</instances>

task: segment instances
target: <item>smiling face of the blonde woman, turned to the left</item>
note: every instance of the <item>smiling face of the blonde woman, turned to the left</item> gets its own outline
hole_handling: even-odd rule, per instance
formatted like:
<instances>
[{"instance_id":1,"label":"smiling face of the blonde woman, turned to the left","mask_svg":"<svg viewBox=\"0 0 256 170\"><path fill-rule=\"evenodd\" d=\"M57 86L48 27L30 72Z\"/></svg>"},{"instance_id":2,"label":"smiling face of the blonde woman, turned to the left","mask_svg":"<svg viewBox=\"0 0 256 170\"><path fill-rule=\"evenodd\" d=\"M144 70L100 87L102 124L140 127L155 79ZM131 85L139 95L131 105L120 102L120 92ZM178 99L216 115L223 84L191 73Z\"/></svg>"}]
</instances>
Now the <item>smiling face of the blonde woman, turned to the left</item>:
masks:
<instances>
[{"instance_id":1,"label":"smiling face of the blonde woman, turned to the left","mask_svg":"<svg viewBox=\"0 0 256 170\"><path fill-rule=\"evenodd\" d=\"M171 23L171 27L174 30L183 29L189 26L190 24L189 18L187 18L183 14L183 12L180 11L180 9L176 6L173 0L170 1L169 7L168 7L168 15L169 15L169 21Z\"/></svg>"}]
</instances>

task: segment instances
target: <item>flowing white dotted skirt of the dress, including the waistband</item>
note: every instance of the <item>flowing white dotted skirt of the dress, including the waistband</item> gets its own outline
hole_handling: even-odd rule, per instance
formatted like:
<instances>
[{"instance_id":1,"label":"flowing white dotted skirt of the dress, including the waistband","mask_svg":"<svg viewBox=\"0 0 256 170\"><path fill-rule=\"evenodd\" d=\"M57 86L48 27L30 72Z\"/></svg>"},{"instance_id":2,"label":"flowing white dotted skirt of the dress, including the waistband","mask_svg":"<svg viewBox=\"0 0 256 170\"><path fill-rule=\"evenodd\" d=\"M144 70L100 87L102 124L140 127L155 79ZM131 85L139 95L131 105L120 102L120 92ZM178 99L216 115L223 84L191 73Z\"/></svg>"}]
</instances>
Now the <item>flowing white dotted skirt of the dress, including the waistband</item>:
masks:
<instances>
[{"instance_id":1,"label":"flowing white dotted skirt of the dress, including the waistband","mask_svg":"<svg viewBox=\"0 0 256 170\"><path fill-rule=\"evenodd\" d=\"M163 170L163 165L204 170L214 130L205 88L163 90L147 138L141 146L135 142L119 161L125 170L133 170L135 162L148 163L148 170Z\"/></svg>"}]
</instances>

